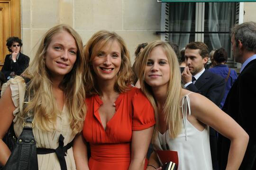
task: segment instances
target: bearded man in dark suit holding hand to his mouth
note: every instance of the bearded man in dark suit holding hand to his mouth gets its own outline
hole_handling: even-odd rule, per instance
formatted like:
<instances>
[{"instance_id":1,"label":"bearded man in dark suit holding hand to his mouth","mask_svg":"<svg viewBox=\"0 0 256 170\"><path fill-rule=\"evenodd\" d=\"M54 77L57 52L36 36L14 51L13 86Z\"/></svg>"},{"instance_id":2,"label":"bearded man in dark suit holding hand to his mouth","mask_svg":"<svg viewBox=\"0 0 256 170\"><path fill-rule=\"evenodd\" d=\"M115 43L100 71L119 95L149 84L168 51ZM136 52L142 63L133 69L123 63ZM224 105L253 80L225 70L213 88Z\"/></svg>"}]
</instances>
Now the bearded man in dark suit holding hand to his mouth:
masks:
<instances>
[{"instance_id":1,"label":"bearded man in dark suit holding hand to his mouth","mask_svg":"<svg viewBox=\"0 0 256 170\"><path fill-rule=\"evenodd\" d=\"M226 83L224 78L204 68L208 56L209 50L205 43L191 42L187 44L185 48L186 67L182 73L182 80L186 89L202 94L219 106L225 93ZM210 152L214 170L219 169L217 150L216 131L210 128Z\"/></svg>"}]
</instances>

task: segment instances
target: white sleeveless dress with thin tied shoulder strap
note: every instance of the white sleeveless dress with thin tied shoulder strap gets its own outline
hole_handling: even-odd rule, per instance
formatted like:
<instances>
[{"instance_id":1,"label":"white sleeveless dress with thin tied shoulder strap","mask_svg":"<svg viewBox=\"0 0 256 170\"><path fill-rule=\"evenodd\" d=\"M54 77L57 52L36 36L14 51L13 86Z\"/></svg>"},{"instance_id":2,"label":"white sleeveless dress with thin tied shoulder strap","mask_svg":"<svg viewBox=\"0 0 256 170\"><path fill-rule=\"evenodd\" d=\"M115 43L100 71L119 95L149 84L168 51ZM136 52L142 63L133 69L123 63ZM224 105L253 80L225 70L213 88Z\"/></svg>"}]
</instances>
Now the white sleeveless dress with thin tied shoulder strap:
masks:
<instances>
[{"instance_id":1,"label":"white sleeveless dress with thin tied shoulder strap","mask_svg":"<svg viewBox=\"0 0 256 170\"><path fill-rule=\"evenodd\" d=\"M158 132L159 137L155 138L154 149L163 150L161 148L163 144L166 150L166 141L171 151L178 152L178 170L212 170L209 126L200 131L187 120L187 111L189 115L191 114L189 94L182 98L183 128L181 133L175 139L171 139L168 131L165 132L167 134Z\"/></svg>"}]
</instances>

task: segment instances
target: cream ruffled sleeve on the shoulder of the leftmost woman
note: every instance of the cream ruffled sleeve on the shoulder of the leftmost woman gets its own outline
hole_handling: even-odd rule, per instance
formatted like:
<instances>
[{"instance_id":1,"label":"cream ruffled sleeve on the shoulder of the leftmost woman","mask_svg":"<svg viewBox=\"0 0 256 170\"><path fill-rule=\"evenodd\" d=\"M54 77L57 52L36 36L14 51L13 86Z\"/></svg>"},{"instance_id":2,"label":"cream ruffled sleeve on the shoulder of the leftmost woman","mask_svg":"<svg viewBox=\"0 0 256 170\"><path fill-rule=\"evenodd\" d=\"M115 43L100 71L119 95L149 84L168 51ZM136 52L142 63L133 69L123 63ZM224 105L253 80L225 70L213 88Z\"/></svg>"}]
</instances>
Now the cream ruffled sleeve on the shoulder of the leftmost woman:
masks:
<instances>
[{"instance_id":1,"label":"cream ruffled sleeve on the shoulder of the leftmost woman","mask_svg":"<svg viewBox=\"0 0 256 170\"><path fill-rule=\"evenodd\" d=\"M25 95L26 84L22 77L16 76L15 78L11 78L8 82L2 85L1 95L5 92L5 90L10 86L11 89L11 99L16 107L13 111L13 115L15 118L13 122L15 123L17 120L18 113L22 110L23 100Z\"/></svg>"}]
</instances>

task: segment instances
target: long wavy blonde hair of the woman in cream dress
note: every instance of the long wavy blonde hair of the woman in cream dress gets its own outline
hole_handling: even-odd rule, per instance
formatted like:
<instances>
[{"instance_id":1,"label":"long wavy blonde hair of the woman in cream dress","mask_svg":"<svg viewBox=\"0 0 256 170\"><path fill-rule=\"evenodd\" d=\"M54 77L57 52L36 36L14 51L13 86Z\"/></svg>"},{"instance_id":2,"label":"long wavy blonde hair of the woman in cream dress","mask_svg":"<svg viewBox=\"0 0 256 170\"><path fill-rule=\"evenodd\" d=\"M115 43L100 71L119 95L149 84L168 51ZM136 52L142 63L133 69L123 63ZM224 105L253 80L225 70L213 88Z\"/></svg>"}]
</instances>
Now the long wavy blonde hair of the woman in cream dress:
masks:
<instances>
[{"instance_id":1,"label":"long wavy blonde hair of the woman in cream dress","mask_svg":"<svg viewBox=\"0 0 256 170\"><path fill-rule=\"evenodd\" d=\"M33 92L33 98L21 113L23 118L29 110L33 110L34 122L42 130L51 131L55 128L58 110L55 97L53 95L53 83L50 80L50 70L46 67L44 59L47 48L55 34L67 32L73 36L77 54L72 70L64 76L60 83L60 88L64 91L65 105L69 113L70 126L74 134L82 131L84 115L86 113L85 89L83 82L83 72L85 59L82 51L82 39L79 34L68 25L58 25L44 34L35 58L29 67L24 71L23 76L30 78L28 85L29 92Z\"/></svg>"}]
</instances>

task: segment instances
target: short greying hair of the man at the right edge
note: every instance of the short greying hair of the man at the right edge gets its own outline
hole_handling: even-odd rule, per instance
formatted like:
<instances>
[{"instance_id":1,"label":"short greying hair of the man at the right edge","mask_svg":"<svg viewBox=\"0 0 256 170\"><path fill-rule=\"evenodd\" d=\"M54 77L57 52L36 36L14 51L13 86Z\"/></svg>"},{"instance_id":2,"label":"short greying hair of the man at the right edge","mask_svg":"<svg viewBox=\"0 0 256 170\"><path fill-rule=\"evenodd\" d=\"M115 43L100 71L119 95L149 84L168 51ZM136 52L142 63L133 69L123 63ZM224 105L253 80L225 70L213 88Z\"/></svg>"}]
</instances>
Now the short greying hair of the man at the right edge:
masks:
<instances>
[{"instance_id":1,"label":"short greying hair of the man at the right edge","mask_svg":"<svg viewBox=\"0 0 256 170\"><path fill-rule=\"evenodd\" d=\"M233 35L236 46L238 46L238 40L240 40L247 51L256 53L256 22L251 21L235 25L231 28L231 36Z\"/></svg>"}]
</instances>

